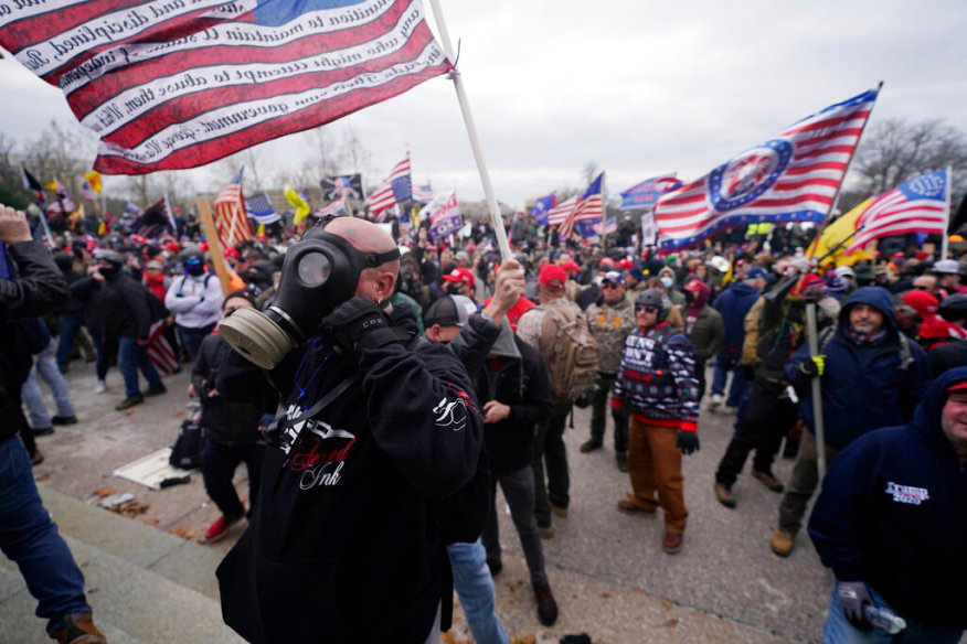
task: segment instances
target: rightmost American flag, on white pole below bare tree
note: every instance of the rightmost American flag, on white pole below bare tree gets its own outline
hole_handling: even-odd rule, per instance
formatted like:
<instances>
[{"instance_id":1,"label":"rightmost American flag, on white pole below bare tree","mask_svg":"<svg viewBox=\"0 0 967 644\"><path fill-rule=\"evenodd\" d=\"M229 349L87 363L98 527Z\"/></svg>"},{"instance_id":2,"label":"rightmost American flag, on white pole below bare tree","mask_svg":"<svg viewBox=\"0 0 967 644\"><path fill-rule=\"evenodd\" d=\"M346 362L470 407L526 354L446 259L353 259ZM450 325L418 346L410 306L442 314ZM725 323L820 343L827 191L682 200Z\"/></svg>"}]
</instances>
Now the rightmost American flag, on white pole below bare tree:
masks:
<instances>
[{"instance_id":1,"label":"rightmost American flag, on white pole below bare tree","mask_svg":"<svg viewBox=\"0 0 967 644\"><path fill-rule=\"evenodd\" d=\"M857 236L847 253L858 250L874 239L927 233L947 233L946 170L921 174L880 195L857 218Z\"/></svg>"}]
</instances>

